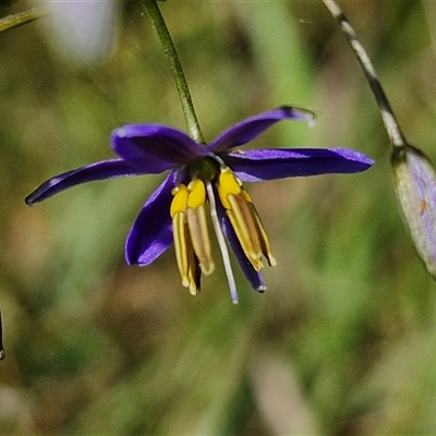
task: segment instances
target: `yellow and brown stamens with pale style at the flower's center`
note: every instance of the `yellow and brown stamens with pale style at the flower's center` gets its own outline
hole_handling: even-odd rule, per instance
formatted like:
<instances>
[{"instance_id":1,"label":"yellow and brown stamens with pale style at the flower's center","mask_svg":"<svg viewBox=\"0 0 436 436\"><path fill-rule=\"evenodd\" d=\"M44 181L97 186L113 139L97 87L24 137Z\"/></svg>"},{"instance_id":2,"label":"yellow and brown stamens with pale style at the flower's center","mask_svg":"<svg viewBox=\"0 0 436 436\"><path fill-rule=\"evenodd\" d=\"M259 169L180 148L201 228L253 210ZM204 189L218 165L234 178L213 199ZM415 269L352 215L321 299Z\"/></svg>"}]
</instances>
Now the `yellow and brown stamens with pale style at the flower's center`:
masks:
<instances>
[{"instance_id":1,"label":"yellow and brown stamens with pale style at the flower's center","mask_svg":"<svg viewBox=\"0 0 436 436\"><path fill-rule=\"evenodd\" d=\"M215 270L205 207L208 199L230 292L233 302L238 302L233 272L221 230L223 221L227 219L230 221L235 239L255 271L261 271L263 268L262 255L268 259L269 265L276 265L268 237L252 198L230 168L214 158L206 157L191 164L186 171L191 182L181 183L172 190L173 199L170 208L175 258L182 284L189 288L192 294L197 294L201 272L209 276ZM222 206L220 214L216 207L217 198ZM265 288L258 290L264 291Z\"/></svg>"}]
</instances>

